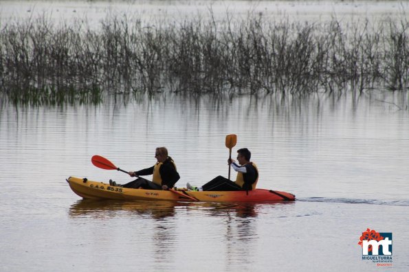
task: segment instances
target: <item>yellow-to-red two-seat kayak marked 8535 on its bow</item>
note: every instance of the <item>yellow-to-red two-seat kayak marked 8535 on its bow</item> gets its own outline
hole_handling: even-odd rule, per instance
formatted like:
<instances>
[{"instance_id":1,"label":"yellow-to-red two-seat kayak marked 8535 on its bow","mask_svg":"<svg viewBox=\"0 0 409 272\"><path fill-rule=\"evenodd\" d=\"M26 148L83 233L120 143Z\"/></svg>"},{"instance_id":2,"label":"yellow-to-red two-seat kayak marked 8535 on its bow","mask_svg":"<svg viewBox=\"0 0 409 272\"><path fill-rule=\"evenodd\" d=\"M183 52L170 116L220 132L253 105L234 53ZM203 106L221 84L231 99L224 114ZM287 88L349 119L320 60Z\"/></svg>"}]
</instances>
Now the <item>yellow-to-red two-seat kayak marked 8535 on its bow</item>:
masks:
<instances>
[{"instance_id":1,"label":"yellow-to-red two-seat kayak marked 8535 on its bow","mask_svg":"<svg viewBox=\"0 0 409 272\"><path fill-rule=\"evenodd\" d=\"M84 199L123 199L123 200L170 200L170 201L294 201L296 196L278 190L256 189L239 191L186 191L145 190L111 186L87 178L69 177L69 187Z\"/></svg>"}]
</instances>

